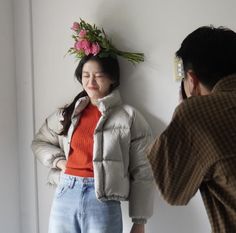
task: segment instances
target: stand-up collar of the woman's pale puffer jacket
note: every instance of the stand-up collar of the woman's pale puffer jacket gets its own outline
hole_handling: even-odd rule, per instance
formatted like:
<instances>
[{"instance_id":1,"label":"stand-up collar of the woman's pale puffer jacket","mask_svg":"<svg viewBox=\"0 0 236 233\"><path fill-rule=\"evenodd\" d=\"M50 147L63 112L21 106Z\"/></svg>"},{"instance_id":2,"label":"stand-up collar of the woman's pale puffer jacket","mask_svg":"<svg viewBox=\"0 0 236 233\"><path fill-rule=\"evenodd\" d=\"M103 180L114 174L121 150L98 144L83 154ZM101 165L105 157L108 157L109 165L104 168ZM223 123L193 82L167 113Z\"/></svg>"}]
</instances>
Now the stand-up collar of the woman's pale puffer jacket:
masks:
<instances>
[{"instance_id":1,"label":"stand-up collar of the woman's pale puffer jacket","mask_svg":"<svg viewBox=\"0 0 236 233\"><path fill-rule=\"evenodd\" d=\"M77 100L74 108L74 112L71 118L77 116L80 112L83 111L84 108L89 104L90 100L88 96L82 97ZM118 90L112 91L109 95L104 98L98 99L97 108L101 112L102 115L105 115L109 112L113 107L120 105L122 103L120 93Z\"/></svg>"}]
</instances>

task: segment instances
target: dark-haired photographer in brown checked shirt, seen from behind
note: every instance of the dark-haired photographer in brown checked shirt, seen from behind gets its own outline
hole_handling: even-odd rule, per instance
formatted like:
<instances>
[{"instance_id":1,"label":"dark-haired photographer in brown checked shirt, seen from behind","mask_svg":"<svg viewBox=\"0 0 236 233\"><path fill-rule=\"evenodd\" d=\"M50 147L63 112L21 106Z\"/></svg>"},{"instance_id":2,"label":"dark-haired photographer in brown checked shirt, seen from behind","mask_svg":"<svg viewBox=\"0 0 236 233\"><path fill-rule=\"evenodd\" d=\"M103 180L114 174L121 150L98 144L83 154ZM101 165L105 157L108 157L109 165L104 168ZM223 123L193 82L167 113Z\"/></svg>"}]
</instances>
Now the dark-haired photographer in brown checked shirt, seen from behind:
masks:
<instances>
[{"instance_id":1,"label":"dark-haired photographer in brown checked shirt, seen from behind","mask_svg":"<svg viewBox=\"0 0 236 233\"><path fill-rule=\"evenodd\" d=\"M200 190L212 232L236 232L236 33L200 27L176 56L186 98L151 147L154 179L171 205Z\"/></svg>"}]
</instances>

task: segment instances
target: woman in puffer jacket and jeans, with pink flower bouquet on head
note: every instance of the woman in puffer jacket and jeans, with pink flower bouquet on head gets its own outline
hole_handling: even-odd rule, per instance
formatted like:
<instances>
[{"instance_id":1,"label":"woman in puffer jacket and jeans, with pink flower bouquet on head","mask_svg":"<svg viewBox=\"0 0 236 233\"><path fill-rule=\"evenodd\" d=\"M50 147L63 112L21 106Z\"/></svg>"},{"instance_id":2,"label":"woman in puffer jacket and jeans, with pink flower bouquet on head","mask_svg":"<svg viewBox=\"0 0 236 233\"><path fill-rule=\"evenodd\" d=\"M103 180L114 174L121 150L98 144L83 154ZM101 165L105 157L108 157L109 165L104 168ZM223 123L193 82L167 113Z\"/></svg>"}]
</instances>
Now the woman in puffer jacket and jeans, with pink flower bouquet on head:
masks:
<instances>
[{"instance_id":1,"label":"woman in puffer jacket and jeans, with pink flower bouquet on head","mask_svg":"<svg viewBox=\"0 0 236 233\"><path fill-rule=\"evenodd\" d=\"M57 185L49 233L121 233L120 201L129 201L132 233L151 217L154 179L146 149L152 133L142 115L121 101L117 55L137 63L143 54L117 50L104 31L85 21L72 27L83 91L49 116L32 142Z\"/></svg>"}]
</instances>

